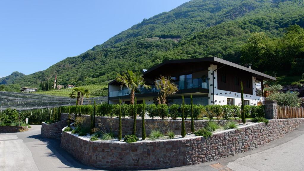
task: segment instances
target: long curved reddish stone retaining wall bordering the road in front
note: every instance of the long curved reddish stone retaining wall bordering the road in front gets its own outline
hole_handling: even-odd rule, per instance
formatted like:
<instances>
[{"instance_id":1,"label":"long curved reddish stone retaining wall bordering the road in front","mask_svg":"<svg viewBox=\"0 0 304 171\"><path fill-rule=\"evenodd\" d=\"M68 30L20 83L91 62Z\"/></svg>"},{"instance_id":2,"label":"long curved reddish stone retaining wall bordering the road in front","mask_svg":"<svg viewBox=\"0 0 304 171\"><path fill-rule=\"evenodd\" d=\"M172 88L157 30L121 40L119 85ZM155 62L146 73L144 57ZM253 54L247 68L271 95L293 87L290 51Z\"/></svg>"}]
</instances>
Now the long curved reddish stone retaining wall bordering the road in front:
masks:
<instances>
[{"instance_id":1,"label":"long curved reddish stone retaining wall bordering the road in front","mask_svg":"<svg viewBox=\"0 0 304 171\"><path fill-rule=\"evenodd\" d=\"M61 147L82 163L106 169L158 169L193 165L247 152L293 131L304 119L269 120L210 138L113 143L87 141L63 132Z\"/></svg>"}]
</instances>

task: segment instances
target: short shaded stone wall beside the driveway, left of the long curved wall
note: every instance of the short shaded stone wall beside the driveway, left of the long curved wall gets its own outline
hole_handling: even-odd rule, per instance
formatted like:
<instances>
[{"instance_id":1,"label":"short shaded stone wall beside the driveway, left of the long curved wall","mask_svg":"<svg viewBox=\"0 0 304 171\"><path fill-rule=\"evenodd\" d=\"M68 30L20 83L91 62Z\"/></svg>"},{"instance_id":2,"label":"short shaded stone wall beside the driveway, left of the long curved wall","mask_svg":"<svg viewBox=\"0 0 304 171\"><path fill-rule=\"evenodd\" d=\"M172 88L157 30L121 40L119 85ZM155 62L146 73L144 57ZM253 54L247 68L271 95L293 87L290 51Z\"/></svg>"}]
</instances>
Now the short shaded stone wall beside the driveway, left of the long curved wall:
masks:
<instances>
[{"instance_id":1,"label":"short shaded stone wall beside the driveway, left of the long curved wall","mask_svg":"<svg viewBox=\"0 0 304 171\"><path fill-rule=\"evenodd\" d=\"M41 136L45 138L58 138L61 136L62 128L67 126L67 120L61 120L53 124L41 124Z\"/></svg>"}]
</instances>

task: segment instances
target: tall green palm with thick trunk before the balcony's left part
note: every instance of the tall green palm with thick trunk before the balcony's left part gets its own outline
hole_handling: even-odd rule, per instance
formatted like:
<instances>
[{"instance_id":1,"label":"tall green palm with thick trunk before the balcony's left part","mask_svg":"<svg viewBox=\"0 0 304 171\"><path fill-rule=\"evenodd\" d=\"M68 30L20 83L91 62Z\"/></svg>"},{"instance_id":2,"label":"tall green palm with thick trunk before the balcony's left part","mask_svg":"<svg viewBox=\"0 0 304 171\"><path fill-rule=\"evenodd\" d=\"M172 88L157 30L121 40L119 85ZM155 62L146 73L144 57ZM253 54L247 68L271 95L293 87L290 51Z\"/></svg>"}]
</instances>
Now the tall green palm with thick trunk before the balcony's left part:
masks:
<instances>
[{"instance_id":1,"label":"tall green palm with thick trunk before the balcony's left part","mask_svg":"<svg viewBox=\"0 0 304 171\"><path fill-rule=\"evenodd\" d=\"M145 84L146 82L143 79L143 73L139 71L133 72L128 70L122 75L117 74L116 81L120 82L122 85L126 86L128 89L131 90L130 104L134 104L135 91L139 89L138 87L140 85L146 89L151 87Z\"/></svg>"}]
</instances>

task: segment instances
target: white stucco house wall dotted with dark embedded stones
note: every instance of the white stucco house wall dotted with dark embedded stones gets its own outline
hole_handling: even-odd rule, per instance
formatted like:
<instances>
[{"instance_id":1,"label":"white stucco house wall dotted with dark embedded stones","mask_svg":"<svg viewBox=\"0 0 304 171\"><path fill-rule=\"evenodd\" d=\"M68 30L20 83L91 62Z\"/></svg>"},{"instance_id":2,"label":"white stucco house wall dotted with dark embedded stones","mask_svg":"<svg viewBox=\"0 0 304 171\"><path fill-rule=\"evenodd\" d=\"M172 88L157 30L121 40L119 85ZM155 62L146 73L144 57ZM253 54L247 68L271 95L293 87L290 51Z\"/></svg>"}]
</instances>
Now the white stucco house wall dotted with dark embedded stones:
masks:
<instances>
[{"instance_id":1,"label":"white stucco house wall dotted with dark embedded stones","mask_svg":"<svg viewBox=\"0 0 304 171\"><path fill-rule=\"evenodd\" d=\"M214 86L214 98L216 100L215 104L220 104L220 105L226 105L227 104L227 98L231 98L233 99L234 105L241 105L241 93L238 92L231 92L231 91L225 91L225 90L219 90L217 89L217 72L214 72L214 85L212 82L212 71L214 71L215 69L217 69L217 65L210 65L210 67L208 68L209 72L208 72L208 76L209 76L209 104L213 104L213 95L212 95L212 91L213 91L213 87ZM231 80L229 80L231 81ZM212 86L210 86L212 84ZM255 77L252 77L252 92L253 94L244 94L244 100L249 100L249 104L250 105L257 105L257 103L260 101L261 103L264 104L264 97L261 96L256 96L255 95L255 91L256 91L256 80Z\"/></svg>"}]
</instances>

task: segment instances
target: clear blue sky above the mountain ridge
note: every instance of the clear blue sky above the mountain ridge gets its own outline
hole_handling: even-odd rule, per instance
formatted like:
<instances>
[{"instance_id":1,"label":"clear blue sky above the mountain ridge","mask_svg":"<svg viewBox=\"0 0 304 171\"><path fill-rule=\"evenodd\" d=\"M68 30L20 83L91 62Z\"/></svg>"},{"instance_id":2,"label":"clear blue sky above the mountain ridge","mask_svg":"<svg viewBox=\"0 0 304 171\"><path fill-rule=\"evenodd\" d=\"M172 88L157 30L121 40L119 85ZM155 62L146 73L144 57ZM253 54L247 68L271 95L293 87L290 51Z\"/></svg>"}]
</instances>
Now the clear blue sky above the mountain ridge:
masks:
<instances>
[{"instance_id":1,"label":"clear blue sky above the mountain ridge","mask_svg":"<svg viewBox=\"0 0 304 171\"><path fill-rule=\"evenodd\" d=\"M0 1L0 77L45 70L188 0Z\"/></svg>"}]
</instances>

